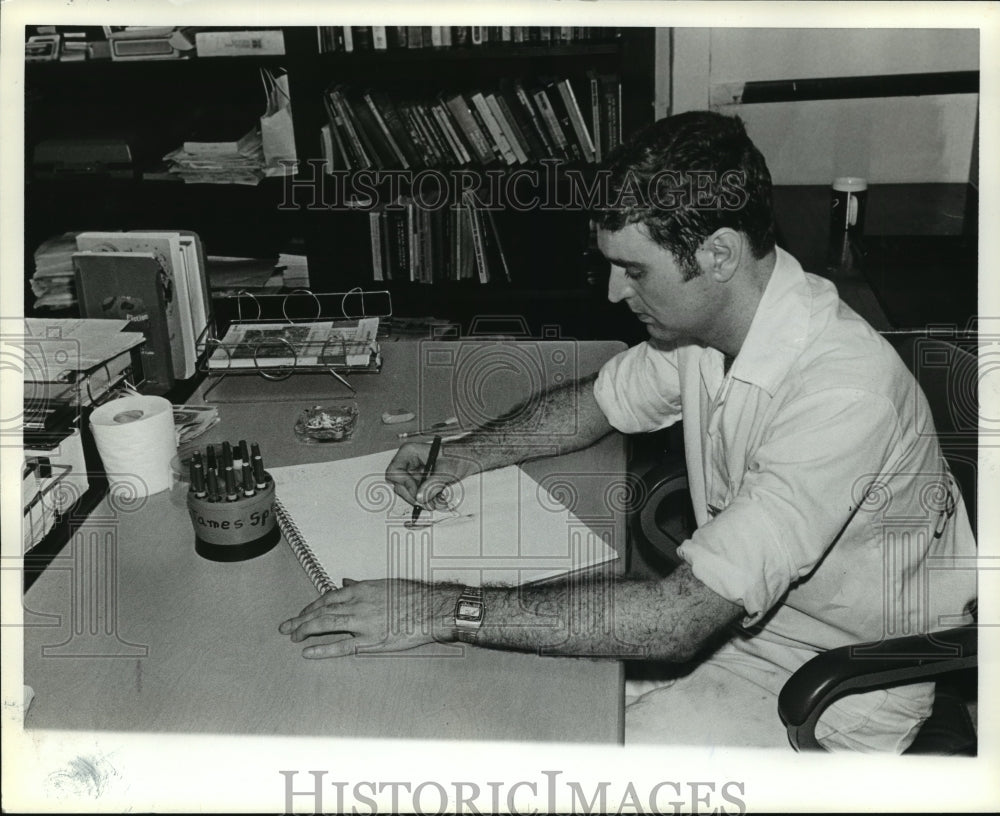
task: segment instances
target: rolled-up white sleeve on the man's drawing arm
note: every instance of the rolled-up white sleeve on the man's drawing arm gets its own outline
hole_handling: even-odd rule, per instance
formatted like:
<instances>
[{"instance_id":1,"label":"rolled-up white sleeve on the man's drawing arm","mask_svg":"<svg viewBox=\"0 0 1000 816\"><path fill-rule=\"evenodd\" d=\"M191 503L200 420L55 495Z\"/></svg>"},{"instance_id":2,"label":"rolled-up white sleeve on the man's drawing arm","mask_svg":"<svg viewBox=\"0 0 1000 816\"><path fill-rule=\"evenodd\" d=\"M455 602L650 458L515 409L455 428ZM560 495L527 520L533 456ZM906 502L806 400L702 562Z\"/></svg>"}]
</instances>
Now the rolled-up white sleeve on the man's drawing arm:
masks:
<instances>
[{"instance_id":1,"label":"rolled-up white sleeve on the man's drawing arm","mask_svg":"<svg viewBox=\"0 0 1000 816\"><path fill-rule=\"evenodd\" d=\"M594 397L608 422L622 433L666 428L681 418L677 349L640 343L606 362Z\"/></svg>"}]
</instances>

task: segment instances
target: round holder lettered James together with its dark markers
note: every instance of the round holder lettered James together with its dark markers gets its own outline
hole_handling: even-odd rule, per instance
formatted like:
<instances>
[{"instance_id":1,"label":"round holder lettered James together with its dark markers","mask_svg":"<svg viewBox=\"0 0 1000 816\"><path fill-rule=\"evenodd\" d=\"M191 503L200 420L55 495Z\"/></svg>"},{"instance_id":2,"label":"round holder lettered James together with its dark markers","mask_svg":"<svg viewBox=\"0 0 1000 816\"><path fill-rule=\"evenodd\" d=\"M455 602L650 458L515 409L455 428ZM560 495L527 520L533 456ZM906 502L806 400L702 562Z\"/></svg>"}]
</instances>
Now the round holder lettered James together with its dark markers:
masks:
<instances>
[{"instance_id":1,"label":"round holder lettered James together with its dark markers","mask_svg":"<svg viewBox=\"0 0 1000 816\"><path fill-rule=\"evenodd\" d=\"M239 479L231 466L226 468L226 478L220 479L213 468L203 490L198 489L200 484L192 484L187 506L195 551L202 558L246 561L273 549L281 539L274 512L274 480L263 469L259 455L257 462L258 474L244 464Z\"/></svg>"}]
</instances>

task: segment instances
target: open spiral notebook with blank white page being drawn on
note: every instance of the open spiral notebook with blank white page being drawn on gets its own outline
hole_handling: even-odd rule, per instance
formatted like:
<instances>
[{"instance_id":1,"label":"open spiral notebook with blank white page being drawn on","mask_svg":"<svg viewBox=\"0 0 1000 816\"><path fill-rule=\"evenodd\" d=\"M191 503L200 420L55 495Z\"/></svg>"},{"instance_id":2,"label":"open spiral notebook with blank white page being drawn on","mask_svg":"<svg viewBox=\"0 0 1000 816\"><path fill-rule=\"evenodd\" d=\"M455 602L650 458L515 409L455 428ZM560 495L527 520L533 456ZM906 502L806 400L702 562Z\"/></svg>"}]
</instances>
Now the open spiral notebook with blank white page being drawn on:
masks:
<instances>
[{"instance_id":1,"label":"open spiral notebook with blank white page being drawn on","mask_svg":"<svg viewBox=\"0 0 1000 816\"><path fill-rule=\"evenodd\" d=\"M268 468L278 524L319 592L343 578L537 583L618 557L610 530L592 530L518 467L453 485L450 510L408 526L413 508L385 481L394 453Z\"/></svg>"}]
</instances>

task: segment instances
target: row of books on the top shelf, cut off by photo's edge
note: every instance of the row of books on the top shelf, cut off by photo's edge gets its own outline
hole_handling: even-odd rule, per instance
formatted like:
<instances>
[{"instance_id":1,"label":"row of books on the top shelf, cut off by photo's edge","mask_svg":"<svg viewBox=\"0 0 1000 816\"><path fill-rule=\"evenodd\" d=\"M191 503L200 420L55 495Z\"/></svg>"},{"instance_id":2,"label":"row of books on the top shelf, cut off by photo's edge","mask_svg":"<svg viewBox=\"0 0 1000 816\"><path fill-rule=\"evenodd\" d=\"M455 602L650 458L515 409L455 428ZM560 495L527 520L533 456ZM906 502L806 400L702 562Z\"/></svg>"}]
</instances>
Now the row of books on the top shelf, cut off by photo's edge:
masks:
<instances>
[{"instance_id":1,"label":"row of books on the top shelf, cut off by photo's edge","mask_svg":"<svg viewBox=\"0 0 1000 816\"><path fill-rule=\"evenodd\" d=\"M467 48L505 45L570 45L613 40L606 26L317 26L321 54L398 48Z\"/></svg>"}]
</instances>

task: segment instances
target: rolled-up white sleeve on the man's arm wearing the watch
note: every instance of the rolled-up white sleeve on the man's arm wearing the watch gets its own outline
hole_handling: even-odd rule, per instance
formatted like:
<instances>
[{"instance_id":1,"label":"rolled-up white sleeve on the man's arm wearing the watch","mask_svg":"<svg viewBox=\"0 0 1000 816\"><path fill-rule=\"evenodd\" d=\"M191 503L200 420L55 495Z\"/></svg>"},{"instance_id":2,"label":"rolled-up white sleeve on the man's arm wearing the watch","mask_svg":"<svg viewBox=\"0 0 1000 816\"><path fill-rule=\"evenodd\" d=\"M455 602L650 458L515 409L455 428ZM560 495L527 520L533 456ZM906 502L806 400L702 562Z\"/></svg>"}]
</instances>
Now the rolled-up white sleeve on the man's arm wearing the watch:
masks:
<instances>
[{"instance_id":1,"label":"rolled-up white sleeve on the man's arm wearing the watch","mask_svg":"<svg viewBox=\"0 0 1000 816\"><path fill-rule=\"evenodd\" d=\"M891 469L899 437L884 397L836 388L795 400L748 456L735 495L678 554L754 625L837 540L872 474Z\"/></svg>"}]
</instances>

